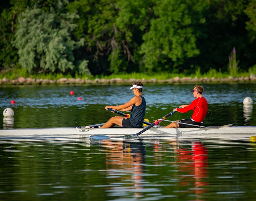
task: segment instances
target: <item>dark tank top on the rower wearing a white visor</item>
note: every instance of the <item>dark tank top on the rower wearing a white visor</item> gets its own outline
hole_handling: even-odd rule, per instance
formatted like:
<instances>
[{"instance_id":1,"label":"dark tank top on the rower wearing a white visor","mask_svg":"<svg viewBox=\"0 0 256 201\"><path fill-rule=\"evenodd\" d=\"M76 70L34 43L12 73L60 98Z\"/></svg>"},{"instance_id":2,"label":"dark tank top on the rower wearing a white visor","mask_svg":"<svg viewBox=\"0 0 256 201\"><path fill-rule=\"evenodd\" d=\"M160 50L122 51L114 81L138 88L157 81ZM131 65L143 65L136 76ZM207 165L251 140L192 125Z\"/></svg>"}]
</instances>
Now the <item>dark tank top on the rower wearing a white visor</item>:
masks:
<instances>
[{"instance_id":1,"label":"dark tank top on the rower wearing a white visor","mask_svg":"<svg viewBox=\"0 0 256 201\"><path fill-rule=\"evenodd\" d=\"M134 104L130 113L130 122L137 128L142 127L146 113L146 100L143 96L140 95L140 97L142 100L141 104L138 106Z\"/></svg>"}]
</instances>

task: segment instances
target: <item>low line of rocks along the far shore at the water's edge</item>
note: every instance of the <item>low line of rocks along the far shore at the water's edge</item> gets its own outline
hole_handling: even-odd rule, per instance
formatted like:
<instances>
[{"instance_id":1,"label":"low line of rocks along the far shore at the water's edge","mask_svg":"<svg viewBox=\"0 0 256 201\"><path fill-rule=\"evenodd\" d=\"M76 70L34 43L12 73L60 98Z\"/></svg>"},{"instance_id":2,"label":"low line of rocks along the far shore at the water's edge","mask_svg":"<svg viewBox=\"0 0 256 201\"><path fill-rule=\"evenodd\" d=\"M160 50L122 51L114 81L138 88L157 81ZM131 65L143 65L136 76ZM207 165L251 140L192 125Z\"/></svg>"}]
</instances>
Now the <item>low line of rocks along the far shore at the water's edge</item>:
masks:
<instances>
[{"instance_id":1,"label":"low line of rocks along the far shore at the water's edge","mask_svg":"<svg viewBox=\"0 0 256 201\"><path fill-rule=\"evenodd\" d=\"M133 83L134 81L142 81L143 83L170 83L170 84L187 84L187 83L230 83L230 82L256 82L256 76L251 74L250 77L232 77L228 78L191 78L191 77L174 77L170 79L157 80L155 78L151 79L81 79L81 78L60 78L58 80L53 79L34 79L34 78L24 78L19 77L18 79L10 80L9 78L0 79L0 85L51 85L51 84L114 84L114 83Z\"/></svg>"}]
</instances>

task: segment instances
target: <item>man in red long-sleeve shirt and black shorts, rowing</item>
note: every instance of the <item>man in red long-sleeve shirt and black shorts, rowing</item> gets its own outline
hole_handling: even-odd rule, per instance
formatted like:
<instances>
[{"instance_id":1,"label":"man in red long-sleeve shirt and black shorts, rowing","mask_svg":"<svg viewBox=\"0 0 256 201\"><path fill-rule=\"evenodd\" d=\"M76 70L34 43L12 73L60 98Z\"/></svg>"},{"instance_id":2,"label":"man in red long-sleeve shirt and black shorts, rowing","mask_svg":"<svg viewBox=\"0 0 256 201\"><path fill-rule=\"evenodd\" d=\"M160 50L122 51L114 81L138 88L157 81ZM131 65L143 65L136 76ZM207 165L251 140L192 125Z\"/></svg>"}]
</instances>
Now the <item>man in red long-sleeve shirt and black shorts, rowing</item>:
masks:
<instances>
[{"instance_id":1,"label":"man in red long-sleeve shirt and black shorts, rowing","mask_svg":"<svg viewBox=\"0 0 256 201\"><path fill-rule=\"evenodd\" d=\"M193 124L200 126L207 113L207 101L205 97L203 97L204 88L203 86L195 85L194 89L191 90L193 92L193 95L195 98L194 101L190 105L181 105L180 108L175 108L173 111L178 111L181 113L188 112L190 110L193 110L193 115L191 118L183 119L183 120L177 120L175 122L181 122L186 124L179 124L172 122L171 124L167 125L165 128L190 128L194 127L187 124Z\"/></svg>"}]
</instances>

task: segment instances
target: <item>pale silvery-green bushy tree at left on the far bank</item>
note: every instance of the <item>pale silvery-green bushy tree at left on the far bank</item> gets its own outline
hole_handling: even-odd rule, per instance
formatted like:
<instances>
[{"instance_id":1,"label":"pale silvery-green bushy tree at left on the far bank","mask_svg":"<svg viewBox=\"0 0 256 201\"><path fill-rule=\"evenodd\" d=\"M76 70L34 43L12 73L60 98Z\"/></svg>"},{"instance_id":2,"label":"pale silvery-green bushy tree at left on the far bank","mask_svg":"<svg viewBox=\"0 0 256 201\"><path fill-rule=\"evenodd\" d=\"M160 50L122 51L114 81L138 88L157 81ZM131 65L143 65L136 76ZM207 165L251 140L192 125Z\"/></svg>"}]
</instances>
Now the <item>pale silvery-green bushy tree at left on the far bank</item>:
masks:
<instances>
[{"instance_id":1,"label":"pale silvery-green bushy tree at left on the far bank","mask_svg":"<svg viewBox=\"0 0 256 201\"><path fill-rule=\"evenodd\" d=\"M48 2L49 3L49 2ZM73 50L82 44L72 39L73 20L78 18L65 9L67 0L50 2L51 7L35 4L19 16L14 45L19 63L28 72L90 72L87 61L76 61Z\"/></svg>"}]
</instances>

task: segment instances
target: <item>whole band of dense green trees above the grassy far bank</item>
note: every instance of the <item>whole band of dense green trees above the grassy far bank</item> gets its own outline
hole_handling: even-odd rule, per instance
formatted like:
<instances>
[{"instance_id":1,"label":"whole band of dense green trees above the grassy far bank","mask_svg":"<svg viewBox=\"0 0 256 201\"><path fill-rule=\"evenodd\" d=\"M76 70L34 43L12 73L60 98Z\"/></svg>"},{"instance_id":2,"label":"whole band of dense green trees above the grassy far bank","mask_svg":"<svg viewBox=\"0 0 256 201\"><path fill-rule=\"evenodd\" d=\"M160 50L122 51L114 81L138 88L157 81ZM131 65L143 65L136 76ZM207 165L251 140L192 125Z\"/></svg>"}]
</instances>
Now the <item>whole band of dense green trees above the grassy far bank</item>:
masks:
<instances>
[{"instance_id":1,"label":"whole band of dense green trees above the grassy far bank","mask_svg":"<svg viewBox=\"0 0 256 201\"><path fill-rule=\"evenodd\" d=\"M7 0L0 70L235 75L256 66L255 13L256 0Z\"/></svg>"}]
</instances>

